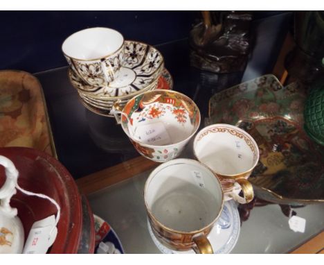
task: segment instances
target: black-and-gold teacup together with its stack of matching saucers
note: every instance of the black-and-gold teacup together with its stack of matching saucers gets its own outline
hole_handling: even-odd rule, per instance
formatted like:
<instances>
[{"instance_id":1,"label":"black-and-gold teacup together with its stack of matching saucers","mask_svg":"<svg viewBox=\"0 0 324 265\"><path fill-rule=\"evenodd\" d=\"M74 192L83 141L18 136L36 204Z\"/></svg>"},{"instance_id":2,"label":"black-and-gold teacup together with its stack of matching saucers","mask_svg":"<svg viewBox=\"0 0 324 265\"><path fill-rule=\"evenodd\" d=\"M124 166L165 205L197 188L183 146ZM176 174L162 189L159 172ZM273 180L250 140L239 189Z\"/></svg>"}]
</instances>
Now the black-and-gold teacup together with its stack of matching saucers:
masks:
<instances>
[{"instance_id":1,"label":"black-and-gold teacup together with its stack of matching saucers","mask_svg":"<svg viewBox=\"0 0 324 265\"><path fill-rule=\"evenodd\" d=\"M164 69L163 56L153 46L124 40L111 28L87 28L62 44L69 79L89 110L112 116L137 94L156 89Z\"/></svg>"}]
</instances>

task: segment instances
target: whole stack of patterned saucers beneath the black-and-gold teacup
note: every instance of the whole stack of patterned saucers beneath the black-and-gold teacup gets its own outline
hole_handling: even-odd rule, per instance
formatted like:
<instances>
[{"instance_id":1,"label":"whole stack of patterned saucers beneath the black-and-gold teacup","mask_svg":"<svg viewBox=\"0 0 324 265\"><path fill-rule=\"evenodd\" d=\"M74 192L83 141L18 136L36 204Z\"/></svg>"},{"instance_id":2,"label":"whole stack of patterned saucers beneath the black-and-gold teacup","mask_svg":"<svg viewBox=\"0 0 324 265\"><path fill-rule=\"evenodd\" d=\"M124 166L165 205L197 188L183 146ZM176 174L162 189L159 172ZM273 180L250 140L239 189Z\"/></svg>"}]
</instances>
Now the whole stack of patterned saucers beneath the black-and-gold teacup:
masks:
<instances>
[{"instance_id":1,"label":"whole stack of patterned saucers beneath the black-and-gold teacup","mask_svg":"<svg viewBox=\"0 0 324 265\"><path fill-rule=\"evenodd\" d=\"M162 54L153 46L132 40L125 41L120 70L108 85L90 85L71 67L68 74L84 107L107 117L112 117L110 110L116 101L123 106L137 94L172 89L173 86L172 77L164 68Z\"/></svg>"}]
</instances>

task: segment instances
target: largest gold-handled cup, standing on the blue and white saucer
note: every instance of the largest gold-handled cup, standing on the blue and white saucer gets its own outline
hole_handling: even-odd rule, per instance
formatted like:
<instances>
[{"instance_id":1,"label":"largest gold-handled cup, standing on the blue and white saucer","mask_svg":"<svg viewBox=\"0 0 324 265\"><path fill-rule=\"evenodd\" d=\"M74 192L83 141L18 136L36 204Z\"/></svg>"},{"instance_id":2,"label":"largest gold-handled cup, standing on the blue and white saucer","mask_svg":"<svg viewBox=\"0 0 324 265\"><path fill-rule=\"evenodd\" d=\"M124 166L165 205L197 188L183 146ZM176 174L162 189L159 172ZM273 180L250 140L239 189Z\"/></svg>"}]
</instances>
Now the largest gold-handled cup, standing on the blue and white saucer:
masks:
<instances>
[{"instance_id":1,"label":"largest gold-handled cup, standing on the blue and white saucer","mask_svg":"<svg viewBox=\"0 0 324 265\"><path fill-rule=\"evenodd\" d=\"M213 253L207 236L222 213L224 194L210 169L196 160L165 162L147 178L144 200L152 231L163 245Z\"/></svg>"}]
</instances>

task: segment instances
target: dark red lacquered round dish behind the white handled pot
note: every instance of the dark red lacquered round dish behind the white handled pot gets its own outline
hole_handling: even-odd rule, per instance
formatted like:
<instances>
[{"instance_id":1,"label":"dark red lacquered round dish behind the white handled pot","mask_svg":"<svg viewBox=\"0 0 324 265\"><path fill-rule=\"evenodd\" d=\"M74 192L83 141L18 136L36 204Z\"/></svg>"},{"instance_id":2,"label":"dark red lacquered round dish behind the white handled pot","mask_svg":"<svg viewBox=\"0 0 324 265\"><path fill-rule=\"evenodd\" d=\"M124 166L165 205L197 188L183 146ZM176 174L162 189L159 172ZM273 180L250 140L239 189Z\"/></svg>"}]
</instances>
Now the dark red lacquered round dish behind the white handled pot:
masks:
<instances>
[{"instance_id":1,"label":"dark red lacquered round dish behind the white handled pot","mask_svg":"<svg viewBox=\"0 0 324 265\"><path fill-rule=\"evenodd\" d=\"M77 253L82 238L82 204L78 187L70 173L55 158L32 148L0 148L0 155L8 157L17 167L20 187L45 194L55 199L61 207L57 238L48 253ZM0 166L0 187L4 180L5 172ZM57 214L56 207L48 200L26 196L20 191L12 196L10 205L17 207L25 235L28 235L35 221Z\"/></svg>"}]
</instances>

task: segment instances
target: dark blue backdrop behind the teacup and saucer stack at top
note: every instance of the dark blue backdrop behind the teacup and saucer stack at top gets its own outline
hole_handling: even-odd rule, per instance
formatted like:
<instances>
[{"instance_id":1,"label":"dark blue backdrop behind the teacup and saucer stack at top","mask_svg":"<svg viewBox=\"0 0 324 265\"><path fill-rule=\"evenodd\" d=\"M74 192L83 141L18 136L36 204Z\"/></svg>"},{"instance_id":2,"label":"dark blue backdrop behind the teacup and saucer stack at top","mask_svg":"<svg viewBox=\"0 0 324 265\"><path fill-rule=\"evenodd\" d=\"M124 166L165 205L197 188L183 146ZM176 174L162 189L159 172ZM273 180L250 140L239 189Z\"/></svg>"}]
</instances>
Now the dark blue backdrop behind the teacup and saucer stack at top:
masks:
<instances>
[{"instance_id":1,"label":"dark blue backdrop behind the teacup and saucer stack at top","mask_svg":"<svg viewBox=\"0 0 324 265\"><path fill-rule=\"evenodd\" d=\"M277 15L255 12L255 19ZM83 28L105 26L152 45L188 37L198 11L1 11L0 69L35 73L66 65L61 46Z\"/></svg>"}]
</instances>

